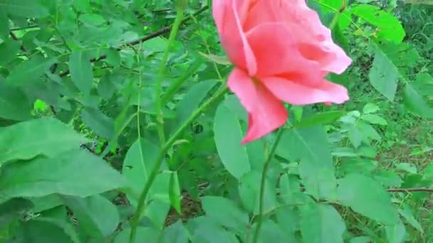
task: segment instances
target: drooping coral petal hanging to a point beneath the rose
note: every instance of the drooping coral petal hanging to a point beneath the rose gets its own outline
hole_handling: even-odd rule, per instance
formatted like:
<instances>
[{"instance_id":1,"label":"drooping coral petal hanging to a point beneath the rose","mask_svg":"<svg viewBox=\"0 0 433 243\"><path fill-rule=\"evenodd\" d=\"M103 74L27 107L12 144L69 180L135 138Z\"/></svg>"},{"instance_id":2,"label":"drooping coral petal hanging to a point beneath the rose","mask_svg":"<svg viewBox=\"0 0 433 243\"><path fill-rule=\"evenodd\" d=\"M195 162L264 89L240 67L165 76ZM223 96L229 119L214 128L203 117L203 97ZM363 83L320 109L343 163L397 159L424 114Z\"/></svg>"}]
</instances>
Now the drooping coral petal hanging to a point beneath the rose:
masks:
<instances>
[{"instance_id":1,"label":"drooping coral petal hanging to a point beneath the rose","mask_svg":"<svg viewBox=\"0 0 433 243\"><path fill-rule=\"evenodd\" d=\"M255 84L246 72L235 68L227 85L249 114L248 131L241 144L259 139L286 122L286 107L264 85Z\"/></svg>"}]
</instances>

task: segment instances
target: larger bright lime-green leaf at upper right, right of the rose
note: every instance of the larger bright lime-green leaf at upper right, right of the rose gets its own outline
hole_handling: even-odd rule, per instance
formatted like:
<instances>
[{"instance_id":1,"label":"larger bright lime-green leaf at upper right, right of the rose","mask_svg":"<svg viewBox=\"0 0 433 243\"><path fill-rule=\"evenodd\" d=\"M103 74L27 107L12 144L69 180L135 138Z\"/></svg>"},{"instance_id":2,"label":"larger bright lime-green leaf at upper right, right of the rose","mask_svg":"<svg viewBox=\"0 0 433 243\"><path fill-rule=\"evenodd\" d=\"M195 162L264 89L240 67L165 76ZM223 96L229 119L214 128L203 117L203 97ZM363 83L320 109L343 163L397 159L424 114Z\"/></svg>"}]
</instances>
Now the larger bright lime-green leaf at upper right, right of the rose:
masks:
<instances>
[{"instance_id":1,"label":"larger bright lime-green leaf at upper right, right of the rose","mask_svg":"<svg viewBox=\"0 0 433 243\"><path fill-rule=\"evenodd\" d=\"M359 4L350 10L351 13L378 28L377 38L382 38L394 43L401 43L405 38L405 29L399 19L391 13L380 10L379 7L370 4Z\"/></svg>"}]
</instances>

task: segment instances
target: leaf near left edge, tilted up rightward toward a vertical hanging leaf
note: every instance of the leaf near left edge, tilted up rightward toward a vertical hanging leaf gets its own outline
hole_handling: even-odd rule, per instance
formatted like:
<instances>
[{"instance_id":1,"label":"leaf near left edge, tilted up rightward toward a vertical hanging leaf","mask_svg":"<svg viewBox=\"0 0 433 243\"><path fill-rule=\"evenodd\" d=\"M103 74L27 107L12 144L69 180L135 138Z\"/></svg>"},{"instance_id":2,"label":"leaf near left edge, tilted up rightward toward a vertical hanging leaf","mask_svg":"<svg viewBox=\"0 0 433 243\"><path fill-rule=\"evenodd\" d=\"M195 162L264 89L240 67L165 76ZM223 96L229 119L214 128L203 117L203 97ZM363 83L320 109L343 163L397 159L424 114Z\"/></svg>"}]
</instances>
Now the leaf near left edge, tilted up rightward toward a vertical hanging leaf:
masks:
<instances>
[{"instance_id":1,"label":"leaf near left edge, tilted up rightward toward a vertical hanging leaf","mask_svg":"<svg viewBox=\"0 0 433 243\"><path fill-rule=\"evenodd\" d=\"M6 85L25 86L36 82L54 63L51 58L36 55L17 65L5 80Z\"/></svg>"}]
</instances>

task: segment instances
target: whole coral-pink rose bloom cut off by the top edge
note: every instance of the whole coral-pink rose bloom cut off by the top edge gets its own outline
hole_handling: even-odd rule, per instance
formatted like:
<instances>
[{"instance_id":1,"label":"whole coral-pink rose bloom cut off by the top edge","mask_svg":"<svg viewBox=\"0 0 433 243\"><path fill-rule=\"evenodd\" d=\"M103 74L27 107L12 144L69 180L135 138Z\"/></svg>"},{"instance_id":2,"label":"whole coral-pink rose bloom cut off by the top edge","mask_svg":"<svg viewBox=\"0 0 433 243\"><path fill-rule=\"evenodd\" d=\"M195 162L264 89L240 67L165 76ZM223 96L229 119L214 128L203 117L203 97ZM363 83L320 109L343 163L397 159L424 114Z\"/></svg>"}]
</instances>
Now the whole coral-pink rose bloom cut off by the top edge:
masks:
<instances>
[{"instance_id":1,"label":"whole coral-pink rose bloom cut off by the top edge","mask_svg":"<svg viewBox=\"0 0 433 243\"><path fill-rule=\"evenodd\" d=\"M250 141L286 123L283 102L341 104L345 87L325 80L352 60L305 0L213 0L221 45L234 64L227 85L248 112Z\"/></svg>"}]
</instances>

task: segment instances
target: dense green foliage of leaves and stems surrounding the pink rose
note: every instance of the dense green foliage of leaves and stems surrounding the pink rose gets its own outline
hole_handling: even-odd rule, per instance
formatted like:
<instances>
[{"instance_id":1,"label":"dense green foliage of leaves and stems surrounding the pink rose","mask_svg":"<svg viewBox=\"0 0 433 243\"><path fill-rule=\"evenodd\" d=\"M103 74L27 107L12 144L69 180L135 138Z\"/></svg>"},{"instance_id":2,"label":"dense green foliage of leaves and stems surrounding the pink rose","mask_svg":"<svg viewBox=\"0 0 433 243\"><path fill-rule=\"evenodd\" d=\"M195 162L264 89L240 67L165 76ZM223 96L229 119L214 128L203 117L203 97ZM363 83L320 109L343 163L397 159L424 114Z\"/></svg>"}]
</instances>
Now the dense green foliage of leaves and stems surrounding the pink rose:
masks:
<instances>
[{"instance_id":1,"label":"dense green foliage of leaves and stems surrounding the pink rose","mask_svg":"<svg viewBox=\"0 0 433 243\"><path fill-rule=\"evenodd\" d=\"M308 5L350 101L241 145L211 1L0 0L0 242L432 242L432 6Z\"/></svg>"}]
</instances>

